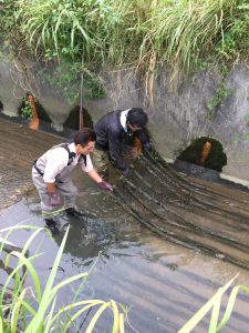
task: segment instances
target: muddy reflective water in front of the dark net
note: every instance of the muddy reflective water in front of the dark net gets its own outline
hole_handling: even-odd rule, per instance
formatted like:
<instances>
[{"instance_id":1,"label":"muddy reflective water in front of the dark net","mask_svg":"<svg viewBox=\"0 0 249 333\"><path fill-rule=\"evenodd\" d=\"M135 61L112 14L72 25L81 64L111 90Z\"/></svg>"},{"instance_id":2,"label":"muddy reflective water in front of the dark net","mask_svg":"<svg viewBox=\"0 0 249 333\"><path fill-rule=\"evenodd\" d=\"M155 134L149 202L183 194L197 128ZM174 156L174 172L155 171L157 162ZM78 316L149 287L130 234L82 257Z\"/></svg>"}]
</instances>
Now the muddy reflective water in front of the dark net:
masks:
<instances>
[{"instance_id":1,"label":"muddy reflective water in front of the dark net","mask_svg":"<svg viewBox=\"0 0 249 333\"><path fill-rule=\"evenodd\" d=\"M128 306L126 332L177 332L217 287L237 272L240 273L237 283L249 284L249 271L168 242L127 214L122 214L110 195L86 176L75 172L73 178L80 189L77 204L85 210L86 218L75 220L60 215L58 223L61 231L53 241L42 232L32 244L32 252L40 248L39 252L43 253L35 262L43 283L64 229L70 224L56 282L92 270L80 297L114 299ZM0 225L29 223L42 226L44 223L39 213L37 192L30 191L19 203L1 212ZM11 241L22 246L30 234L18 231L11 235ZM1 279L4 276L2 272ZM62 300L70 301L76 287L77 284L66 287ZM248 332L248 306L247 296L240 294L224 332ZM97 332L111 332L108 323L104 319ZM207 327L208 317L195 332L207 332ZM84 326L81 332L84 332Z\"/></svg>"}]
</instances>

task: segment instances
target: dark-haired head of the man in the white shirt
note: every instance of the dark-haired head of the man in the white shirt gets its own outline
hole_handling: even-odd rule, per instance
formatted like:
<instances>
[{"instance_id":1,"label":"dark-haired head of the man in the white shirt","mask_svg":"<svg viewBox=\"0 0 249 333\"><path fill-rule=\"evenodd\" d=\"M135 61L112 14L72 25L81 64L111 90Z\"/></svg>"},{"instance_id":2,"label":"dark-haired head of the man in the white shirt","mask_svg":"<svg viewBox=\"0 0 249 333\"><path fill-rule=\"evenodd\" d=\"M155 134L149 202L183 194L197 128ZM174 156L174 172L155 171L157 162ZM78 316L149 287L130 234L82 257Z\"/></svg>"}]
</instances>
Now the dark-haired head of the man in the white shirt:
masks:
<instances>
[{"instance_id":1,"label":"dark-haired head of the man in the white shirt","mask_svg":"<svg viewBox=\"0 0 249 333\"><path fill-rule=\"evenodd\" d=\"M83 129L74 135L74 144L77 154L87 155L94 150L96 134L92 129Z\"/></svg>"}]
</instances>

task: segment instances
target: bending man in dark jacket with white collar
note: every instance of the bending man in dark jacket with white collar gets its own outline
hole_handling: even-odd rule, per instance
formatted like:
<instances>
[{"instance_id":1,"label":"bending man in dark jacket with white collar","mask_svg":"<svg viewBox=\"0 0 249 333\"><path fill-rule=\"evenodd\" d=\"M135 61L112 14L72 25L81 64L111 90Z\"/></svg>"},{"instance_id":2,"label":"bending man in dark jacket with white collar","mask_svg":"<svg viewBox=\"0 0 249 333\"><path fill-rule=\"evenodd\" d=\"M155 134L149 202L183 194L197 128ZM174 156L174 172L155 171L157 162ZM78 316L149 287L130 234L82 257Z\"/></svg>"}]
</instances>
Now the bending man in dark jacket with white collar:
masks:
<instances>
[{"instance_id":1,"label":"bending man in dark jacket with white collar","mask_svg":"<svg viewBox=\"0 0 249 333\"><path fill-rule=\"evenodd\" d=\"M123 158L123 143L128 137L135 137L142 147L149 147L149 139L145 132L148 117L141 108L112 111L102 117L94 131L96 133L93 162L102 178L108 176L110 159L118 168L124 176L128 174L128 167Z\"/></svg>"}]
</instances>

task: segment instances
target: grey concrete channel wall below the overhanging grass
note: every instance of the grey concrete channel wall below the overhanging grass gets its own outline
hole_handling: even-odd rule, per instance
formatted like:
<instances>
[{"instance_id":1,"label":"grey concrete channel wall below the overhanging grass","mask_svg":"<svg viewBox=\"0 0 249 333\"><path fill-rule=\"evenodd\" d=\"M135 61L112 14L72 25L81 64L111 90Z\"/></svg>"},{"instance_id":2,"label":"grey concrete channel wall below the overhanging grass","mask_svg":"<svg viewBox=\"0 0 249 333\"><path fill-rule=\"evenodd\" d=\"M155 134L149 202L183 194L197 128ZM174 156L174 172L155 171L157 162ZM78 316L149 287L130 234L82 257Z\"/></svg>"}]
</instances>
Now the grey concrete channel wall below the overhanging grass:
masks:
<instances>
[{"instance_id":1,"label":"grey concrete channel wall below the overhanging grass","mask_svg":"<svg viewBox=\"0 0 249 333\"><path fill-rule=\"evenodd\" d=\"M3 58L0 63L2 112L17 115L25 92L30 91L45 109L52 127L61 131L72 105L63 92L39 81L38 65L29 63L29 71L21 71L20 65ZM83 103L94 122L114 109L142 107L149 115L155 145L165 159L175 160L197 138L210 137L221 143L227 155L224 174L249 184L249 71L246 68L232 70L226 80L208 71L200 72L188 81L179 79L175 90L169 87L167 71L162 69L149 93L145 82L131 71L106 70L104 85L106 98Z\"/></svg>"}]
</instances>

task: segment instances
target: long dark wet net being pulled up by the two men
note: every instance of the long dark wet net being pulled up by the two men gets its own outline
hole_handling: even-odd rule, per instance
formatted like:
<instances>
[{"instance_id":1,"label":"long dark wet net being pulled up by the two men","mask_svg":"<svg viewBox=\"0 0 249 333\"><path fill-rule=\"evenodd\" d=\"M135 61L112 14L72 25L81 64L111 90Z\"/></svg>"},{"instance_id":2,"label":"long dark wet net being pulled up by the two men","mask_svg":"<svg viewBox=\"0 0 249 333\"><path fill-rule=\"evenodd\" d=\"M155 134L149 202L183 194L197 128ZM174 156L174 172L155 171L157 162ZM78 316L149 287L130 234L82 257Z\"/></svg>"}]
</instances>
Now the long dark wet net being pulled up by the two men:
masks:
<instances>
[{"instance_id":1,"label":"long dark wet net being pulled up by the two men","mask_svg":"<svg viewBox=\"0 0 249 333\"><path fill-rule=\"evenodd\" d=\"M113 200L165 239L249 268L249 195L184 176L156 152L145 152Z\"/></svg>"}]
</instances>

